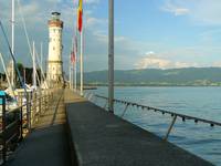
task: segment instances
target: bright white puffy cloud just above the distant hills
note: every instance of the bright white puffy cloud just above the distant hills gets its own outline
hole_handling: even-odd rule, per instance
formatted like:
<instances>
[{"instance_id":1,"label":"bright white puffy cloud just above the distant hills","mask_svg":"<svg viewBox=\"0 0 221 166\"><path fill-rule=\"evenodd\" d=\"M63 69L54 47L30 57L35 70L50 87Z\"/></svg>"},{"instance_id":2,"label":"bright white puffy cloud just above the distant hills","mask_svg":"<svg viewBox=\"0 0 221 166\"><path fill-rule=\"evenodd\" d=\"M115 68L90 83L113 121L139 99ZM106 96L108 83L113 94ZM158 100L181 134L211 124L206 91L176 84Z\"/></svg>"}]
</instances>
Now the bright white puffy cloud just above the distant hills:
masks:
<instances>
[{"instance_id":1,"label":"bright white puffy cloud just above the distant hills","mask_svg":"<svg viewBox=\"0 0 221 166\"><path fill-rule=\"evenodd\" d=\"M145 58L140 59L135 66L137 69L177 69L177 68L188 68L198 66L197 63L190 64L186 62L171 61L159 58L154 51L147 52Z\"/></svg>"}]
</instances>

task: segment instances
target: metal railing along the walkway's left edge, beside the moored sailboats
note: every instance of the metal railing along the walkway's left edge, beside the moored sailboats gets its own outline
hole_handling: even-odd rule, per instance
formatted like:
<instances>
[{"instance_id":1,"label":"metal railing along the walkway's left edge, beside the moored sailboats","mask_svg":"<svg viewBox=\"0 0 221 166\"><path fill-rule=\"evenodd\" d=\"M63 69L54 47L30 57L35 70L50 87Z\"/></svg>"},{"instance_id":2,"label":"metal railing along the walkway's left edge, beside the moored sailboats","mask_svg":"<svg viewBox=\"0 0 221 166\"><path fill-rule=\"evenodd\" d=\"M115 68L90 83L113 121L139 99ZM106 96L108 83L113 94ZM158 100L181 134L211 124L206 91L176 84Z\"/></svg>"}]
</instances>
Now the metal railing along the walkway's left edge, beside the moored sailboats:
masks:
<instances>
[{"instance_id":1,"label":"metal railing along the walkway's left edge, beside the moored sailboats","mask_svg":"<svg viewBox=\"0 0 221 166\"><path fill-rule=\"evenodd\" d=\"M6 95L0 95L1 112L0 115L0 152L1 164L7 162L9 154L13 152L17 145L25 137L39 117L49 108L50 101L53 98L53 90L31 92L23 101L24 93L18 94L19 106L13 110L7 110Z\"/></svg>"}]
</instances>

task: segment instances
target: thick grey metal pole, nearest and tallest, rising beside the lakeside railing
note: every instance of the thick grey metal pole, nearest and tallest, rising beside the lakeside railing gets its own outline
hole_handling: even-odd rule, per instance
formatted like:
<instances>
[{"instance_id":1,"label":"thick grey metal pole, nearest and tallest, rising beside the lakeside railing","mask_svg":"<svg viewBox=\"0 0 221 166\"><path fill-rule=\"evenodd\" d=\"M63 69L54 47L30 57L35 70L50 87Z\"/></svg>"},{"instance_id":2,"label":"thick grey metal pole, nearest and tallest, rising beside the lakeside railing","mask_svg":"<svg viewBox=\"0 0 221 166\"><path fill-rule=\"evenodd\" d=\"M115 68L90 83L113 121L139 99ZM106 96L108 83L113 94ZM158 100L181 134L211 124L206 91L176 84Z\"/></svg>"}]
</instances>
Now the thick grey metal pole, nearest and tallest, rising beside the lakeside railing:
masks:
<instances>
[{"instance_id":1,"label":"thick grey metal pole, nearest and tallest, rising beside the lakeside railing","mask_svg":"<svg viewBox=\"0 0 221 166\"><path fill-rule=\"evenodd\" d=\"M114 113L114 0L109 0L108 111Z\"/></svg>"}]
</instances>

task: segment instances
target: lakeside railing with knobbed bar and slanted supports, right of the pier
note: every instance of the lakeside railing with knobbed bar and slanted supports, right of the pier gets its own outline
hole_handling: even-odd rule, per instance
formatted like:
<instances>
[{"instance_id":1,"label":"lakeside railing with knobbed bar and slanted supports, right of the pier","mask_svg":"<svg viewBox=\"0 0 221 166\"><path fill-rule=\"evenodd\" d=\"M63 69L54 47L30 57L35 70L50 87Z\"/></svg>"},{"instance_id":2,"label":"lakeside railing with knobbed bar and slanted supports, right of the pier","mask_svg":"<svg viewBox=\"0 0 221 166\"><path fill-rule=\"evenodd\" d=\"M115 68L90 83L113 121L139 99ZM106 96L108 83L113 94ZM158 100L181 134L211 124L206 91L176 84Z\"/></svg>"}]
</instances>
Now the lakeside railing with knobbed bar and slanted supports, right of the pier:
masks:
<instances>
[{"instance_id":1,"label":"lakeside railing with knobbed bar and slanted supports, right of the pier","mask_svg":"<svg viewBox=\"0 0 221 166\"><path fill-rule=\"evenodd\" d=\"M108 102L108 97L106 96L102 96L102 95L96 95L96 94L92 94L92 93L87 93L85 95L85 97L88 98L88 101L96 103L97 98L102 98L105 101L105 104L103 106L103 108L107 110L107 102ZM147 105L141 105L138 103L134 103L134 102L127 102L127 101L123 101L123 100L114 100L114 103L118 103L118 104L123 104L125 107L122 112L122 115L119 115L120 117L124 117L128 107L129 106L135 106L137 108L141 108L141 110L147 110L147 111L152 111L154 113L161 113L162 115L170 115L171 116L171 123L169 125L169 127L167 128L167 133L164 137L165 141L168 141L169 134L172 131L173 125L176 124L177 118L181 118L182 122L186 122L187 120L193 121L194 123L204 123L210 125L211 127L214 126L221 126L220 122L214 122L214 121L210 121L210 120L204 120L204 118L199 118L199 117L194 117L194 116L189 116L189 115L185 115L185 114L179 114L179 113L175 113L175 112L169 112L166 110L161 110L161 108L156 108L156 107L151 107L151 106L147 106Z\"/></svg>"}]
</instances>

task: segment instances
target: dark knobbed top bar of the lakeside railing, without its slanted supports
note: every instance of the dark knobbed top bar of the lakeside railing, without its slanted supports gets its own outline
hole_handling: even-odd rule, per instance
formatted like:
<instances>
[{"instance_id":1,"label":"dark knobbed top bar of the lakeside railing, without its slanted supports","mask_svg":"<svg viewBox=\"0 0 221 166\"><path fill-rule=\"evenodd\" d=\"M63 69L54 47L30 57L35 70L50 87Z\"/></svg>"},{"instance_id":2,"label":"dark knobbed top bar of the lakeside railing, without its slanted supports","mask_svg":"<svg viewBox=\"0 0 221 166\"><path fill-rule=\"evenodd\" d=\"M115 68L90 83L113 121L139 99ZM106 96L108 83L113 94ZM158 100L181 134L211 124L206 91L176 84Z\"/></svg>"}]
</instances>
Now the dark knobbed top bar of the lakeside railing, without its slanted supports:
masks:
<instances>
[{"instance_id":1,"label":"dark knobbed top bar of the lakeside railing, without its slanted supports","mask_svg":"<svg viewBox=\"0 0 221 166\"><path fill-rule=\"evenodd\" d=\"M102 95L94 95L94 96L99 97L99 98L104 98L104 100L108 100L108 97L102 96ZM175 112L170 112L170 111L166 111L166 110L161 110L161 108L156 108L156 107L152 107L152 106L141 105L141 104L127 102L127 101L123 101L123 100L114 100L114 102L126 104L126 105L131 105L131 106L137 106L137 107L141 107L141 108L147 108L149 111L160 112L162 114L170 114L171 116L181 117L182 121L193 120L194 123L202 122L202 123L210 124L210 126L214 126L214 125L221 126L220 122L214 122L214 121L204 120L204 118L200 118L200 117L194 117L194 116L190 116L190 115L179 114L179 113L175 113Z\"/></svg>"}]
</instances>

